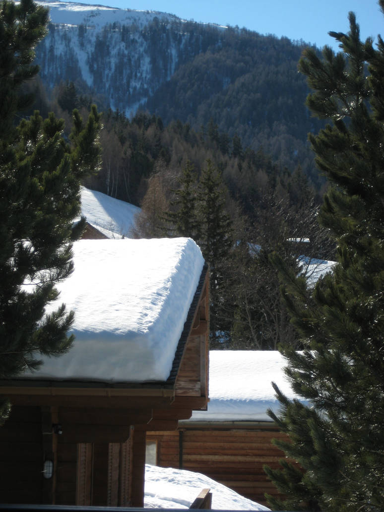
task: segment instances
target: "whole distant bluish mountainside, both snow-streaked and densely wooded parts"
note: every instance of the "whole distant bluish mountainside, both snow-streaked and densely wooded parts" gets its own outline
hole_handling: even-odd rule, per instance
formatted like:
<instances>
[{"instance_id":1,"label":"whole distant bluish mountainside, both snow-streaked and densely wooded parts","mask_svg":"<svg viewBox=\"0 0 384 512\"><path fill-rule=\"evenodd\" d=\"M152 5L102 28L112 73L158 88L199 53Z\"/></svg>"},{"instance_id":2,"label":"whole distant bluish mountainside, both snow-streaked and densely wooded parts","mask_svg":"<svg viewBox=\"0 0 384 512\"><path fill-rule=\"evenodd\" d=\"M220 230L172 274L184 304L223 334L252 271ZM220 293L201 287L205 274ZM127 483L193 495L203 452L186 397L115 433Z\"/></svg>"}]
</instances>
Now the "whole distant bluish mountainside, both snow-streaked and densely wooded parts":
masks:
<instances>
[{"instance_id":1,"label":"whole distant bluish mountainside, both snow-streaked and densely wooded parts","mask_svg":"<svg viewBox=\"0 0 384 512\"><path fill-rule=\"evenodd\" d=\"M197 133L212 120L230 140L239 136L280 167L293 172L300 164L320 188L307 133L324 121L310 116L308 86L297 72L305 42L160 14L144 25L116 22L99 31L92 19L51 23L36 50L48 94L72 81L104 112L111 107L132 116L139 109Z\"/></svg>"}]
</instances>

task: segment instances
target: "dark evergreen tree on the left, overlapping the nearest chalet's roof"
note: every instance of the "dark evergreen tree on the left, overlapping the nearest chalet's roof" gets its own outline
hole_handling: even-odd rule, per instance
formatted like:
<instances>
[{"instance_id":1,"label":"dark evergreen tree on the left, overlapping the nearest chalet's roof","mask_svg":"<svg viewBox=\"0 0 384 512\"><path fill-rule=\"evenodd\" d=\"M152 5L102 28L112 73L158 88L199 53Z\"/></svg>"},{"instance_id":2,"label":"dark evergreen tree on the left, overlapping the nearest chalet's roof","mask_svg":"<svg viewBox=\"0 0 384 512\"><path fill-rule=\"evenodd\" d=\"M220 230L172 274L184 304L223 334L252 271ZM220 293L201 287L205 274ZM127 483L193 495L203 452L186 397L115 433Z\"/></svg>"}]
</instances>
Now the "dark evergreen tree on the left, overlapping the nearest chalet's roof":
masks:
<instances>
[{"instance_id":1,"label":"dark evergreen tree on the left, overlapping the nearest chalet's roof","mask_svg":"<svg viewBox=\"0 0 384 512\"><path fill-rule=\"evenodd\" d=\"M48 11L30 0L0 6L0 378L39 366L39 354L66 352L73 314L62 305L51 314L55 283L72 271L71 242L83 222L79 179L99 166L100 127L95 107L87 123L74 111L71 143L63 121L38 112L14 125L30 98L18 94L34 76L34 46L44 36ZM8 406L6 406L6 409Z\"/></svg>"}]
</instances>

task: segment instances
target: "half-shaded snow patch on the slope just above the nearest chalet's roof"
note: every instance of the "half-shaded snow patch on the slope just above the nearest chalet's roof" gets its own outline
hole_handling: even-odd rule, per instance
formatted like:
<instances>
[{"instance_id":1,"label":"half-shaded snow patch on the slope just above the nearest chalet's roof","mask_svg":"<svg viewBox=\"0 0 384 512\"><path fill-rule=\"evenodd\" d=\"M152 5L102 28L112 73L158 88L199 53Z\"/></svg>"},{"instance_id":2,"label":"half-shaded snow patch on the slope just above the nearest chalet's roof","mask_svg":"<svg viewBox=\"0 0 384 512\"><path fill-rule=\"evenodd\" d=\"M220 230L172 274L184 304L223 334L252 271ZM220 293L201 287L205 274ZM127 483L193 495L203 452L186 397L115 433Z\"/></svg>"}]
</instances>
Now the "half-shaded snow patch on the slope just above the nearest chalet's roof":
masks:
<instances>
[{"instance_id":1,"label":"half-shaded snow patch on the slope just above the nearest chalet's roof","mask_svg":"<svg viewBox=\"0 0 384 512\"><path fill-rule=\"evenodd\" d=\"M81 187L81 215L107 238L130 238L139 211L133 204Z\"/></svg>"}]
</instances>

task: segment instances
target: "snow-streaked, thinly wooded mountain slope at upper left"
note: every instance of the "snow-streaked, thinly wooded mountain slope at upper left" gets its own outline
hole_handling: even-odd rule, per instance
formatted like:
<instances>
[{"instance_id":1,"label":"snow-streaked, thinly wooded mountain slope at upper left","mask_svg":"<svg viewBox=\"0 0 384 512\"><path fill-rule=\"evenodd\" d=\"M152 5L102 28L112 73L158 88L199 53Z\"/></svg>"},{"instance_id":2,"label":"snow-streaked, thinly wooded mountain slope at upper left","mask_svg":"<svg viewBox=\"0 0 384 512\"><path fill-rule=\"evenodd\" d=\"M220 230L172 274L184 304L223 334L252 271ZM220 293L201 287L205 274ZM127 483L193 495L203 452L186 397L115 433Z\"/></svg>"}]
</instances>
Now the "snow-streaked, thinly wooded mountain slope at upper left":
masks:
<instances>
[{"instance_id":1,"label":"snow-streaked, thinly wooded mountain slope at upper left","mask_svg":"<svg viewBox=\"0 0 384 512\"><path fill-rule=\"evenodd\" d=\"M39 0L50 9L47 37L37 48L40 76L49 87L60 80L85 82L125 114L153 94L185 61L186 22L156 11L117 9ZM172 26L174 30L168 30ZM196 45L195 45L196 46Z\"/></svg>"}]
</instances>

